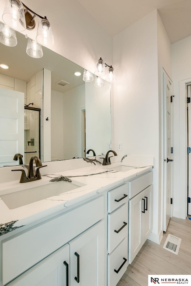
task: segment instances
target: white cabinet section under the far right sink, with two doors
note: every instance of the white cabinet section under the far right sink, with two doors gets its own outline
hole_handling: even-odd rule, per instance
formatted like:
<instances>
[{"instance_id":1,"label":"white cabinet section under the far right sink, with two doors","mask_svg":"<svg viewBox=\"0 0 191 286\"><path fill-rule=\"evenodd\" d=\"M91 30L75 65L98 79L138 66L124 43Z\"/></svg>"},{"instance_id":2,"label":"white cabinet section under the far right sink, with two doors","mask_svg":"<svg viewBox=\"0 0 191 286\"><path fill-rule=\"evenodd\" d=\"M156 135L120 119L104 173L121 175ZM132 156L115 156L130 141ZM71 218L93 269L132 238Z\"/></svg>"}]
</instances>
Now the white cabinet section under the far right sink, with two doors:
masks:
<instances>
[{"instance_id":1,"label":"white cabinet section under the far right sink, with two doors","mask_svg":"<svg viewBox=\"0 0 191 286\"><path fill-rule=\"evenodd\" d=\"M129 182L129 190L130 196L133 196L129 201L129 263L131 263L152 231L152 172Z\"/></svg>"}]
</instances>

